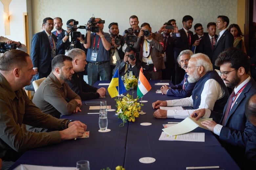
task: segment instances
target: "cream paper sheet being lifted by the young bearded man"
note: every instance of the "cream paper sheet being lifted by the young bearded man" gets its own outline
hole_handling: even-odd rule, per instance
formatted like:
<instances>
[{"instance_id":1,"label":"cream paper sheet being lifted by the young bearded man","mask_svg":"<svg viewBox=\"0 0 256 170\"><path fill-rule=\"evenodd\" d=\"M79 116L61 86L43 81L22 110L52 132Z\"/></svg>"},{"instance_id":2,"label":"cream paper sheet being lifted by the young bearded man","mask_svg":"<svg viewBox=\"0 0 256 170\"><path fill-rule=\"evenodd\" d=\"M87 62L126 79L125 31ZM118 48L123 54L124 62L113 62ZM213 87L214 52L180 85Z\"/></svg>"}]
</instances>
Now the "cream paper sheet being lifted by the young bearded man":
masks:
<instances>
[{"instance_id":1,"label":"cream paper sheet being lifted by the young bearded man","mask_svg":"<svg viewBox=\"0 0 256 170\"><path fill-rule=\"evenodd\" d=\"M184 119L180 123L178 123L178 124L176 124L172 127L163 128L162 130L165 133L167 133L171 136L175 136L175 135L188 133L188 132L194 130L195 128L197 128L197 127L202 127L204 129L207 129L206 127L201 125L201 122L203 122L205 120L212 120L212 118L199 119L198 121L196 121L195 118L187 117L186 119Z\"/></svg>"}]
</instances>

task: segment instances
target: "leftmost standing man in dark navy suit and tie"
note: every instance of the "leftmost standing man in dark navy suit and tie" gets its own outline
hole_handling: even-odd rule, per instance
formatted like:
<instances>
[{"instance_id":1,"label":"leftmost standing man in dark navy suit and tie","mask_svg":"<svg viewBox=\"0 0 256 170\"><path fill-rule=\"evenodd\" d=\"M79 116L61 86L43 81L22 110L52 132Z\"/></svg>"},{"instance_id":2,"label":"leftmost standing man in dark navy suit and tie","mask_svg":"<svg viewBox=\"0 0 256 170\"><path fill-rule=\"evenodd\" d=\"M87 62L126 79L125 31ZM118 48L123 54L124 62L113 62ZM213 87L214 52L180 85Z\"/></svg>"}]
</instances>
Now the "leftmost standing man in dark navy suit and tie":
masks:
<instances>
[{"instance_id":1,"label":"leftmost standing man in dark navy suit and tie","mask_svg":"<svg viewBox=\"0 0 256 170\"><path fill-rule=\"evenodd\" d=\"M47 77L51 71L51 62L57 55L57 37L52 34L53 19L48 17L43 20L44 30L33 35L31 44L31 59L36 78Z\"/></svg>"}]
</instances>

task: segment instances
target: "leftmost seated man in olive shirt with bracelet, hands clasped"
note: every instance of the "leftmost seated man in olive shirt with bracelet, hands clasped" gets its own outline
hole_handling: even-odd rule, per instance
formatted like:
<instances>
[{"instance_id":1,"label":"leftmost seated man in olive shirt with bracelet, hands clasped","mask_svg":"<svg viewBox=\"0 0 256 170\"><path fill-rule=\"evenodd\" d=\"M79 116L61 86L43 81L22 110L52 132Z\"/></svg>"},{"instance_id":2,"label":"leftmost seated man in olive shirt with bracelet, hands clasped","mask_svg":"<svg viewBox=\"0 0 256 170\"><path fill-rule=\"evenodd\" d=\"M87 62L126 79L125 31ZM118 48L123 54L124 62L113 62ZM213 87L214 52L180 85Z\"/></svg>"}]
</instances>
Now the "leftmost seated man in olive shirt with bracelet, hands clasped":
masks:
<instances>
[{"instance_id":1,"label":"leftmost seated man in olive shirt with bracelet, hands clasped","mask_svg":"<svg viewBox=\"0 0 256 170\"><path fill-rule=\"evenodd\" d=\"M57 119L43 113L28 98L23 87L35 75L30 56L20 50L6 52L0 58L0 158L8 169L24 151L61 140L81 137L86 125L80 121ZM44 133L23 130L22 123L34 127L57 129ZM9 165L9 167L7 166Z\"/></svg>"}]
</instances>

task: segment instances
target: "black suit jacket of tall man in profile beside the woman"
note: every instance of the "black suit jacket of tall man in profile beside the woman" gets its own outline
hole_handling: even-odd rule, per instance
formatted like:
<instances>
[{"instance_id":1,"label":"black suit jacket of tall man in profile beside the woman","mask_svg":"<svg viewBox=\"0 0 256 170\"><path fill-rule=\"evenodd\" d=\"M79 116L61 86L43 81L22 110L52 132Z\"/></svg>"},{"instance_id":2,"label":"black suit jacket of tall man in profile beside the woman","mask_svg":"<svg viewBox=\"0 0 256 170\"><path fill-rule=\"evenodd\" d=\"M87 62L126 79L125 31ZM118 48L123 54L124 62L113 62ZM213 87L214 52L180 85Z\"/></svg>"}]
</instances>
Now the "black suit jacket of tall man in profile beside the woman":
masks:
<instances>
[{"instance_id":1,"label":"black suit jacket of tall man in profile beside the woman","mask_svg":"<svg viewBox=\"0 0 256 170\"><path fill-rule=\"evenodd\" d=\"M216 67L214 65L215 60L217 59L217 57L219 56L219 54L221 52L223 52L225 49L229 48L229 47L233 47L233 43L234 43L234 37L233 35L226 29L225 32L222 34L222 36L220 37L219 41L216 42L215 47L212 51L212 56L211 56L211 61L213 64L213 69L218 69L220 70L219 67Z\"/></svg>"}]
</instances>

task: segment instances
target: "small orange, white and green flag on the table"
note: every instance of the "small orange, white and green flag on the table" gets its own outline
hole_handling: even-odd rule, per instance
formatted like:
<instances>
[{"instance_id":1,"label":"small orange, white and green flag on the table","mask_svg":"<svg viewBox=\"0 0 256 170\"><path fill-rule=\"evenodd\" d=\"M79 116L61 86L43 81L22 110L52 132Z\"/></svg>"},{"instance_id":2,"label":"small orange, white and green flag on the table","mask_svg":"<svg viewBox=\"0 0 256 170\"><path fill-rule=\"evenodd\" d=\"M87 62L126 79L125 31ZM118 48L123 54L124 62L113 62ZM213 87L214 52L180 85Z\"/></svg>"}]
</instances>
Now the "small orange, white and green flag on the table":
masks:
<instances>
[{"instance_id":1,"label":"small orange, white and green flag on the table","mask_svg":"<svg viewBox=\"0 0 256 170\"><path fill-rule=\"evenodd\" d=\"M146 79L146 77L143 75L142 68L140 68L137 95L140 98L143 95L145 95L146 93L148 93L150 91L150 89L151 89L151 86L150 86L148 80Z\"/></svg>"}]
</instances>

